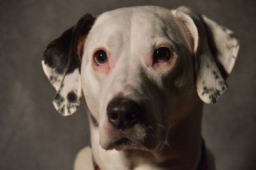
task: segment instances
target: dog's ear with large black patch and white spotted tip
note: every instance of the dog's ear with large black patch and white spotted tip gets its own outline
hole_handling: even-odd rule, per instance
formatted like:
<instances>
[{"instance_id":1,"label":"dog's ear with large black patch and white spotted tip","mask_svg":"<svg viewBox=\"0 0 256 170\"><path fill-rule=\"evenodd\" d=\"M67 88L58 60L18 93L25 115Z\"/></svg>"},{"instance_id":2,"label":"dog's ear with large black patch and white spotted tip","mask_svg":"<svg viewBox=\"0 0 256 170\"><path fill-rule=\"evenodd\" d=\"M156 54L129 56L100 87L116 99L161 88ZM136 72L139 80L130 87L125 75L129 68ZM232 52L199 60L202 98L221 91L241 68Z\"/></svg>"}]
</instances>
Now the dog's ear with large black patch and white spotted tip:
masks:
<instances>
[{"instance_id":1,"label":"dog's ear with large black patch and white spotted tip","mask_svg":"<svg viewBox=\"0 0 256 170\"><path fill-rule=\"evenodd\" d=\"M52 103L64 116L74 113L80 104L83 44L94 20L92 15L84 15L47 46L42 58L44 73L57 91Z\"/></svg>"}]
</instances>

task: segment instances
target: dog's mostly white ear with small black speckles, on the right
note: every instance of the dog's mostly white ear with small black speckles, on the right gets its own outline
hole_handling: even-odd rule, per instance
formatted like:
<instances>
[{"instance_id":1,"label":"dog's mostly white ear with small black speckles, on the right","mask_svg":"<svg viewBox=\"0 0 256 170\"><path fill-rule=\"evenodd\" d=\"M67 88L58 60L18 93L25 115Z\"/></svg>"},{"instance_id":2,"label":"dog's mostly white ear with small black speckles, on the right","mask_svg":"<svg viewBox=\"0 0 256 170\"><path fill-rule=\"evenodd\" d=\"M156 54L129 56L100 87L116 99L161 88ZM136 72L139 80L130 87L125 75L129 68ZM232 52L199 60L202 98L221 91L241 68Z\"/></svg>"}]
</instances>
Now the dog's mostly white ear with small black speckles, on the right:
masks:
<instances>
[{"instance_id":1,"label":"dog's mostly white ear with small black speckles, on the right","mask_svg":"<svg viewBox=\"0 0 256 170\"><path fill-rule=\"evenodd\" d=\"M196 90L205 103L216 103L227 89L239 41L229 29L191 12L186 7L172 11L195 57Z\"/></svg>"}]
</instances>

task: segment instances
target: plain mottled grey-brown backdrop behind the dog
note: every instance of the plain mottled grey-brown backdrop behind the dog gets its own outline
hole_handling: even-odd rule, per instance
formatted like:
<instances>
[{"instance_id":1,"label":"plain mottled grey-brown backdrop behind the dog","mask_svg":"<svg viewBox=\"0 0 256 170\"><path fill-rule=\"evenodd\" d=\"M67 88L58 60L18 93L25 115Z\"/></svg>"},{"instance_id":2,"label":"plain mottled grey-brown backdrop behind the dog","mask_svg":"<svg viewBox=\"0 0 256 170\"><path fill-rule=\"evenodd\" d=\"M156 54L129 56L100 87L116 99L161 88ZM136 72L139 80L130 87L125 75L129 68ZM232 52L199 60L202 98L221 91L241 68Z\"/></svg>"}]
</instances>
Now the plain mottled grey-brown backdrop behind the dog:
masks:
<instances>
[{"instance_id":1,"label":"plain mottled grey-brown backdrop behind the dog","mask_svg":"<svg viewBox=\"0 0 256 170\"><path fill-rule=\"evenodd\" d=\"M146 4L186 5L236 32L241 50L229 89L217 104L205 105L203 136L217 169L256 169L256 5L246 0L1 1L0 169L72 169L90 140L86 113L83 106L70 117L54 110L42 53L84 13Z\"/></svg>"}]
</instances>

